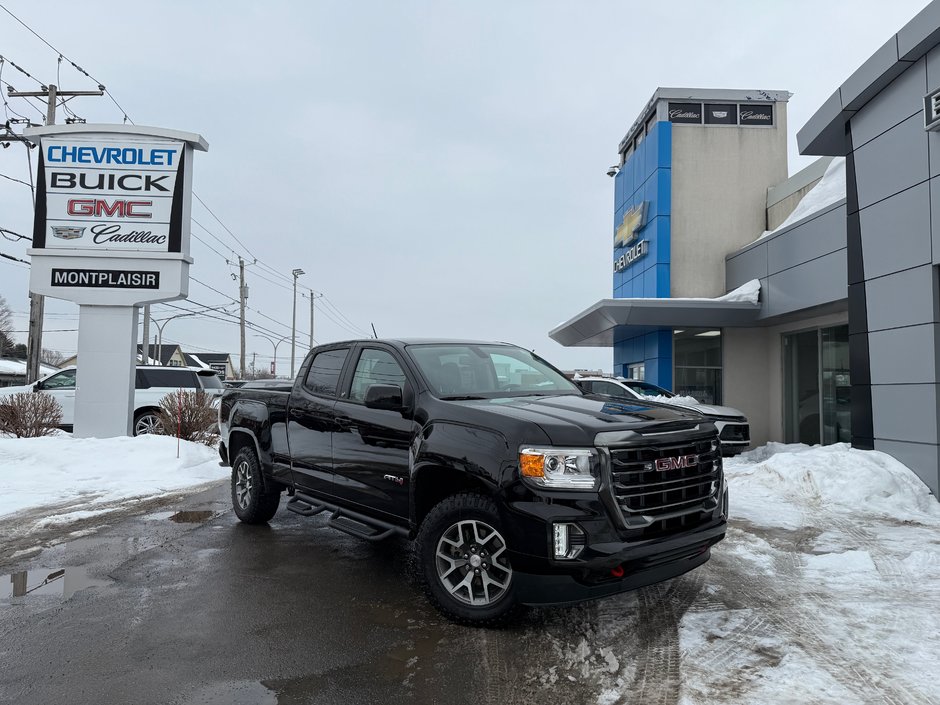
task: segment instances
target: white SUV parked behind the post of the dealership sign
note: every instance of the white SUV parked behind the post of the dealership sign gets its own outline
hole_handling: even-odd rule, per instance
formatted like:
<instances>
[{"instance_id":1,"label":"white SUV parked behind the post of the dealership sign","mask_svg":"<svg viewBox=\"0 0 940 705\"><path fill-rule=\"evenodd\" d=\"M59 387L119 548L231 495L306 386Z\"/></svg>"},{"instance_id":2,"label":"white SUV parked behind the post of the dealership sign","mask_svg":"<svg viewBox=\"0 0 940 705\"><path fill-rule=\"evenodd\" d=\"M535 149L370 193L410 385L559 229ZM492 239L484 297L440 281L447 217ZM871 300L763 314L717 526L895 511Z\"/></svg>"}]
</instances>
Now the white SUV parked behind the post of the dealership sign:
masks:
<instances>
[{"instance_id":1,"label":"white SUV parked behind the post of the dealership sign","mask_svg":"<svg viewBox=\"0 0 940 705\"><path fill-rule=\"evenodd\" d=\"M137 368L134 391L135 436L152 433L160 423L157 411L160 400L178 389L201 389L215 397L217 404L224 387L214 370L196 367L148 367ZM61 428L71 431L75 424L75 367L66 367L22 387L0 388L0 402L4 396L19 392L42 392L53 397L62 407Z\"/></svg>"}]
</instances>

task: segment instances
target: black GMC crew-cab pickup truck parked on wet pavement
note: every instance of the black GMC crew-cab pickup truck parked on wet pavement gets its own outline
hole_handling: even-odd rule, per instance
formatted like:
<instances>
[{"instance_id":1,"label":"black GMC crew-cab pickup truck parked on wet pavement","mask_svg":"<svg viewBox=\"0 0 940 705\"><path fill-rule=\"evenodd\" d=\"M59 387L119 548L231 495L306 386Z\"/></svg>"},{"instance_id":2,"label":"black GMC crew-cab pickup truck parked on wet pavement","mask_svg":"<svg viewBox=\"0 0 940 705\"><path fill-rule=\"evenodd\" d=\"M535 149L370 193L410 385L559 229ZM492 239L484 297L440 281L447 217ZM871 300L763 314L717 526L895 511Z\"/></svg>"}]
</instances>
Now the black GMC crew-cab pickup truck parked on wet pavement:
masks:
<instances>
[{"instance_id":1,"label":"black GMC crew-cab pickup truck parked on wet pavement","mask_svg":"<svg viewBox=\"0 0 940 705\"><path fill-rule=\"evenodd\" d=\"M714 425L585 395L513 345L324 345L293 383L226 390L219 426L239 519L286 491L355 536L413 539L430 600L464 623L673 578L725 534Z\"/></svg>"}]
</instances>

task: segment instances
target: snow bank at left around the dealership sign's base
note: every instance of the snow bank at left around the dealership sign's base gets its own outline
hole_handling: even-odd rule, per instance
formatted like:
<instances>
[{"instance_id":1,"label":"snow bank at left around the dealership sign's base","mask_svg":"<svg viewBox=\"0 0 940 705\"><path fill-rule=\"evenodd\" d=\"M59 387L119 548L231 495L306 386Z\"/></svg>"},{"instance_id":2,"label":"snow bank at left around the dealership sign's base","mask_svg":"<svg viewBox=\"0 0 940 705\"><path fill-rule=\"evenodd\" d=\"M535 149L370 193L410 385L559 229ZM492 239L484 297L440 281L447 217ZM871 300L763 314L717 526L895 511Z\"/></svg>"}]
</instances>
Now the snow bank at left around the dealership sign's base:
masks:
<instances>
[{"instance_id":1,"label":"snow bank at left around the dealership sign's base","mask_svg":"<svg viewBox=\"0 0 940 705\"><path fill-rule=\"evenodd\" d=\"M0 438L0 517L55 505L80 519L228 475L212 448L182 441L177 458L176 446L152 435Z\"/></svg>"}]
</instances>

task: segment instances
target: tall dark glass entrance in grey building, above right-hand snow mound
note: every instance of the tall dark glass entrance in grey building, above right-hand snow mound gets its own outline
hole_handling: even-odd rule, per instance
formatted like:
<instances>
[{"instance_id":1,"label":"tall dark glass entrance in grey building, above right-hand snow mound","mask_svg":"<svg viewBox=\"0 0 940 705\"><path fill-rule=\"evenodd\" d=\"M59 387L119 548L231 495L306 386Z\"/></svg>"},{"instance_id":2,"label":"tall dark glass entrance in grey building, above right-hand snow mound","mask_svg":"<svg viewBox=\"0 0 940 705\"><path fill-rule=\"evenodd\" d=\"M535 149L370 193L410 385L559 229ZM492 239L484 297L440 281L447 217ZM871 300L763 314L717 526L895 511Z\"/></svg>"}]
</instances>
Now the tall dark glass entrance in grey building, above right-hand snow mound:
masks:
<instances>
[{"instance_id":1,"label":"tall dark glass entrance in grey building, above right-hand snow mound","mask_svg":"<svg viewBox=\"0 0 940 705\"><path fill-rule=\"evenodd\" d=\"M850 443L849 327L785 335L783 362L786 442Z\"/></svg>"}]
</instances>

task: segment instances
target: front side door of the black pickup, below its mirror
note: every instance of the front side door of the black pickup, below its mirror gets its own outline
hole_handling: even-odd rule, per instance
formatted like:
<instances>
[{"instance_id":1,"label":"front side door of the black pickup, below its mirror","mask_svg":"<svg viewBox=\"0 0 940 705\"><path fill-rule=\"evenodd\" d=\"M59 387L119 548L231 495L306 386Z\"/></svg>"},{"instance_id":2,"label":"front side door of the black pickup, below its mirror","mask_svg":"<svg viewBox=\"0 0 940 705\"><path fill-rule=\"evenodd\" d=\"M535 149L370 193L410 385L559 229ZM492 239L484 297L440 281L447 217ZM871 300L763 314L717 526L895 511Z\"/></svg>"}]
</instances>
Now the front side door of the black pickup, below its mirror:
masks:
<instances>
[{"instance_id":1,"label":"front side door of the black pickup, below its mirror","mask_svg":"<svg viewBox=\"0 0 940 705\"><path fill-rule=\"evenodd\" d=\"M401 411L370 409L373 384L394 384L409 398L404 367L390 348L364 345L336 402L333 472L337 496L394 517L408 517L409 453L418 428ZM410 387L410 389L409 389Z\"/></svg>"}]
</instances>

